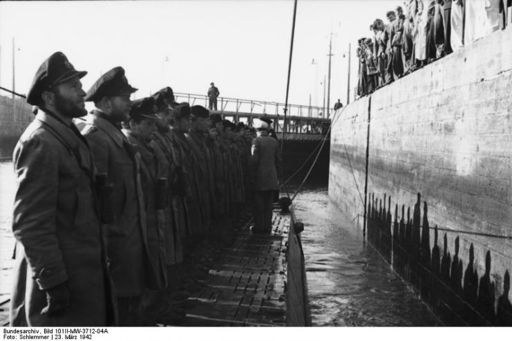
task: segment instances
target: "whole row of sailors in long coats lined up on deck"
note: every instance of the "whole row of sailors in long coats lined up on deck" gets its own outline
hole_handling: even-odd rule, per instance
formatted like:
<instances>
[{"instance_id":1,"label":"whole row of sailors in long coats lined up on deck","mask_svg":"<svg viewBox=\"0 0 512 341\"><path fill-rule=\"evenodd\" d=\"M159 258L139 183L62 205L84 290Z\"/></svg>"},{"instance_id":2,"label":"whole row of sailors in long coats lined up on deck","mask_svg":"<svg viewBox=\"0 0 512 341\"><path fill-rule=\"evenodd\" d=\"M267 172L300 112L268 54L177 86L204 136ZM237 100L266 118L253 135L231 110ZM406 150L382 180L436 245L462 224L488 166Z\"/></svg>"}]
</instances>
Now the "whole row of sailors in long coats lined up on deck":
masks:
<instances>
[{"instance_id":1,"label":"whole row of sailors in long coats lined up on deck","mask_svg":"<svg viewBox=\"0 0 512 341\"><path fill-rule=\"evenodd\" d=\"M253 130L169 87L132 102L121 67L87 93L85 75L54 53L28 92L40 110L13 156L10 325L172 324L193 270L184 257L229 239L249 196ZM84 100L95 109L79 131Z\"/></svg>"}]
</instances>

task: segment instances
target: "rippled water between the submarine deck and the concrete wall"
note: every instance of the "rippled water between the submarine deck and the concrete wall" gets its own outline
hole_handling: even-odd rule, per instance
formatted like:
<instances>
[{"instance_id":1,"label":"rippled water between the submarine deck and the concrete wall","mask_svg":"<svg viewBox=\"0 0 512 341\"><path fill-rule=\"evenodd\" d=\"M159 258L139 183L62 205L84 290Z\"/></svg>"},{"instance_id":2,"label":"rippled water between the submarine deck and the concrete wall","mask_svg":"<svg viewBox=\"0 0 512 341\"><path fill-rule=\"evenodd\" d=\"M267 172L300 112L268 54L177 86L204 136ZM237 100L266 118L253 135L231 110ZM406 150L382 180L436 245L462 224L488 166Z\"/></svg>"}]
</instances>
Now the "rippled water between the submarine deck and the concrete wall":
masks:
<instances>
[{"instance_id":1,"label":"rippled water between the submarine deck and the concrete wall","mask_svg":"<svg viewBox=\"0 0 512 341\"><path fill-rule=\"evenodd\" d=\"M427 306L363 243L361 230L328 199L326 188L294 201L314 326L438 326Z\"/></svg>"}]
</instances>

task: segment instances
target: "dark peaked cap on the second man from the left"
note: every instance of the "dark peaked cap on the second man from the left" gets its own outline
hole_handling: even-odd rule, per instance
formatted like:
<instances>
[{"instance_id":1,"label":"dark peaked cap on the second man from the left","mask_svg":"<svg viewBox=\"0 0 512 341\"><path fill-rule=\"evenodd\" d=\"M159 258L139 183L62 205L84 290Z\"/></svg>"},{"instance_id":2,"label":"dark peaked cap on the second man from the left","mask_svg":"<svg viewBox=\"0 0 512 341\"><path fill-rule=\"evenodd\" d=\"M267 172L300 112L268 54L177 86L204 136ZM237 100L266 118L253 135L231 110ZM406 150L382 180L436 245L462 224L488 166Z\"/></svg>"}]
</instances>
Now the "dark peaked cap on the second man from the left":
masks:
<instances>
[{"instance_id":1,"label":"dark peaked cap on the second man from the left","mask_svg":"<svg viewBox=\"0 0 512 341\"><path fill-rule=\"evenodd\" d=\"M125 93L134 93L137 90L128 83L124 75L124 68L117 66L98 78L91 89L87 91L85 100L95 102L104 97L120 96Z\"/></svg>"}]
</instances>

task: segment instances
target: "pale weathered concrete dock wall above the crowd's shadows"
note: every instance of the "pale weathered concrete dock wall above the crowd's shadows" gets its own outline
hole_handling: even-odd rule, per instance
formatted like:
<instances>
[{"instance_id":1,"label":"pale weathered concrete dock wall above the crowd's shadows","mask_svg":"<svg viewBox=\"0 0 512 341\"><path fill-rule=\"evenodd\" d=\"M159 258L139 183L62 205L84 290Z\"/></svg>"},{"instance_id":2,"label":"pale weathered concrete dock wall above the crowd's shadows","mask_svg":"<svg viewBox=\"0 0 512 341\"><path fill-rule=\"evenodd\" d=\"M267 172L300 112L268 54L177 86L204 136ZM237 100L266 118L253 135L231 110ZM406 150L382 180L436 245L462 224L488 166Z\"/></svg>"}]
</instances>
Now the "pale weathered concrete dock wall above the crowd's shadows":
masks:
<instances>
[{"instance_id":1,"label":"pale weathered concrete dock wall above the crowd's shadows","mask_svg":"<svg viewBox=\"0 0 512 341\"><path fill-rule=\"evenodd\" d=\"M490 251L497 299L512 270L511 94L509 27L357 100L333 120L330 197L363 214L368 139L368 193L391 196L392 215L395 205L412 215L421 193L430 227L459 231L446 232L448 251L459 237L464 268L471 243L480 275Z\"/></svg>"}]
</instances>

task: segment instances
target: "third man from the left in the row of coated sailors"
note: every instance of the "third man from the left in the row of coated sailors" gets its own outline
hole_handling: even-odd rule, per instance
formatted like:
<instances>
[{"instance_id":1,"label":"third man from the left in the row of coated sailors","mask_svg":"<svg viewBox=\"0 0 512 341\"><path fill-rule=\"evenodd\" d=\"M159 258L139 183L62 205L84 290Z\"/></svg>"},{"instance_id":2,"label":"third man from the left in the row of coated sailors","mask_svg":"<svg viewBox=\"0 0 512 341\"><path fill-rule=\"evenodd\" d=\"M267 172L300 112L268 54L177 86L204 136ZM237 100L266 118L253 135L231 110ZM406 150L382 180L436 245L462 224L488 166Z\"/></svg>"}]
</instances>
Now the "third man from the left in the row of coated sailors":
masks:
<instances>
[{"instance_id":1,"label":"third man from the left in the row of coated sailors","mask_svg":"<svg viewBox=\"0 0 512 341\"><path fill-rule=\"evenodd\" d=\"M175 256L177 234L169 200L169 160L153 140L157 130L156 122L160 121L155 112L154 98L133 101L129 128L122 129L142 160L140 179L144 192L149 257L157 279L155 285L149 286L142 295L142 317L144 324L149 325L169 323L161 317L167 309L165 291L169 282L174 280L168 277L167 257Z\"/></svg>"}]
</instances>

